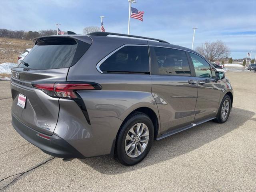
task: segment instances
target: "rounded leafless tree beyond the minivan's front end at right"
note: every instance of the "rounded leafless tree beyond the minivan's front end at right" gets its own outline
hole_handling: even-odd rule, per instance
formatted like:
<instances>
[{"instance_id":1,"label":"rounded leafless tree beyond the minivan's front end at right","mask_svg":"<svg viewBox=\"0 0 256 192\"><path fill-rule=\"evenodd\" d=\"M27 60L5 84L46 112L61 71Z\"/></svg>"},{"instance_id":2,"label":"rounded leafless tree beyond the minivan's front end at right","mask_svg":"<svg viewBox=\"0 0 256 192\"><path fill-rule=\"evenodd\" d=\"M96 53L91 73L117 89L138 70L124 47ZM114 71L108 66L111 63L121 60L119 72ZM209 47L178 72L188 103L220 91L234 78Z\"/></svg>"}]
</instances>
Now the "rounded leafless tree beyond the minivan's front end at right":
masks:
<instances>
[{"instance_id":1,"label":"rounded leafless tree beyond the minivan's front end at right","mask_svg":"<svg viewBox=\"0 0 256 192\"><path fill-rule=\"evenodd\" d=\"M230 49L224 42L217 40L216 42L205 42L196 48L196 51L202 54L210 62L222 59L230 55Z\"/></svg>"}]
</instances>

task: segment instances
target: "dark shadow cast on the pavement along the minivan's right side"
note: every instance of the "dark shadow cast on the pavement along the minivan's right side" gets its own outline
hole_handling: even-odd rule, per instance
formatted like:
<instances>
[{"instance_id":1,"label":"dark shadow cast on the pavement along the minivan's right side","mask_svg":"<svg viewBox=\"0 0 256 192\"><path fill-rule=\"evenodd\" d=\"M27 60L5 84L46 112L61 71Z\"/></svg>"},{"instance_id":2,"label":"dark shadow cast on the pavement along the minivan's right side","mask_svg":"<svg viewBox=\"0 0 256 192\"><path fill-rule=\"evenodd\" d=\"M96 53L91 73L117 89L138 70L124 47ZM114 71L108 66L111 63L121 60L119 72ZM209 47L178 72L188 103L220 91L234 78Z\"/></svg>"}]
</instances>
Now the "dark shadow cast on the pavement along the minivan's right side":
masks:
<instances>
[{"instance_id":1,"label":"dark shadow cast on the pavement along the minivan's right side","mask_svg":"<svg viewBox=\"0 0 256 192\"><path fill-rule=\"evenodd\" d=\"M224 124L210 121L162 140L154 141L148 156L135 166L124 166L109 156L80 159L80 161L102 174L114 175L130 172L200 148L204 144L239 128L249 119L255 121L255 118L252 118L254 114L248 110L232 108L229 119Z\"/></svg>"}]
</instances>

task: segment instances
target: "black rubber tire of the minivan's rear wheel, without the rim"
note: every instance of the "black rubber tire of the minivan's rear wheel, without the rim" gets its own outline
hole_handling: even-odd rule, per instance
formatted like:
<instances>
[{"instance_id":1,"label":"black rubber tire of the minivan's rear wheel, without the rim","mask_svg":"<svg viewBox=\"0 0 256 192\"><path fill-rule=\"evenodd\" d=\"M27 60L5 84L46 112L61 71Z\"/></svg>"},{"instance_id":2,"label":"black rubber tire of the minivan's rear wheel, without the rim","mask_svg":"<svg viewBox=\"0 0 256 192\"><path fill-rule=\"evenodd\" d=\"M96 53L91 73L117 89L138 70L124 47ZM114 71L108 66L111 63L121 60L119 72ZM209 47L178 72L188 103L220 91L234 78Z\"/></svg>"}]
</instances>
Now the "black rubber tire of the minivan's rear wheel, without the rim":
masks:
<instances>
[{"instance_id":1,"label":"black rubber tire of the minivan's rear wheel, without the rim","mask_svg":"<svg viewBox=\"0 0 256 192\"><path fill-rule=\"evenodd\" d=\"M129 157L126 154L125 151L125 139L126 135L128 134L130 128L134 126L136 123L144 123L148 127L149 131L149 139L148 139L148 144L145 148L145 150L138 156L138 157ZM126 166L132 166L140 161L142 161L146 155L148 154L152 143L154 140L154 125L151 121L151 119L144 113L141 112L136 112L134 114L131 114L126 118L126 120L123 122L122 126L120 127L119 133L116 138L116 147L115 147L115 157L117 160L126 165Z\"/></svg>"}]
</instances>

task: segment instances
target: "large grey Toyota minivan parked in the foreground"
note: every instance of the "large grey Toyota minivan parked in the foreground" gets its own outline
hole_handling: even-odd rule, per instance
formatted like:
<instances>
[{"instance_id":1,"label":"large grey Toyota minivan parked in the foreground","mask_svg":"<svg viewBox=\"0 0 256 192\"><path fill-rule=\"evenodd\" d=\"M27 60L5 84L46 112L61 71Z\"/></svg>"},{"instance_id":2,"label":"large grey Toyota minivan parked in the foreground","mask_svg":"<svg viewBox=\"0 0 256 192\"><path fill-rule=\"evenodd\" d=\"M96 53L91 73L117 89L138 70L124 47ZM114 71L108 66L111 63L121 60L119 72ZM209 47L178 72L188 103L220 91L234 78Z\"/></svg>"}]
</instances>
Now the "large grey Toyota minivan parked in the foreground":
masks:
<instances>
[{"instance_id":1,"label":"large grey Toyota minivan parked in the foreground","mask_svg":"<svg viewBox=\"0 0 256 192\"><path fill-rule=\"evenodd\" d=\"M230 81L194 50L107 32L33 41L12 68L12 125L47 154L131 166L154 139L228 120Z\"/></svg>"}]
</instances>

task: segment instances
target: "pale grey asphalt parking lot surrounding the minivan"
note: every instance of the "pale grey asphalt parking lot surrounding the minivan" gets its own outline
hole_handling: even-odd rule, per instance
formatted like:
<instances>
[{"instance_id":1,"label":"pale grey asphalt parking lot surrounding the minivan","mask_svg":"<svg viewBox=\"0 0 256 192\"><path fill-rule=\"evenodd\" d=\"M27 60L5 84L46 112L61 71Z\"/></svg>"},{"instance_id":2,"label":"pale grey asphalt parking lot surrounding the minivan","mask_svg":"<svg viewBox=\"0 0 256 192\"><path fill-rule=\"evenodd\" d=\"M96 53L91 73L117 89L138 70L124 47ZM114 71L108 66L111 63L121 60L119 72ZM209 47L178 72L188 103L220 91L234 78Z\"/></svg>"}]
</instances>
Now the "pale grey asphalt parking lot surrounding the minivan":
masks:
<instances>
[{"instance_id":1,"label":"pale grey asphalt parking lot surrounding the minivan","mask_svg":"<svg viewBox=\"0 0 256 192\"><path fill-rule=\"evenodd\" d=\"M224 124L207 122L154 141L141 163L107 156L63 162L11 125L10 81L0 81L2 191L255 191L256 72L226 72L234 103Z\"/></svg>"}]
</instances>

